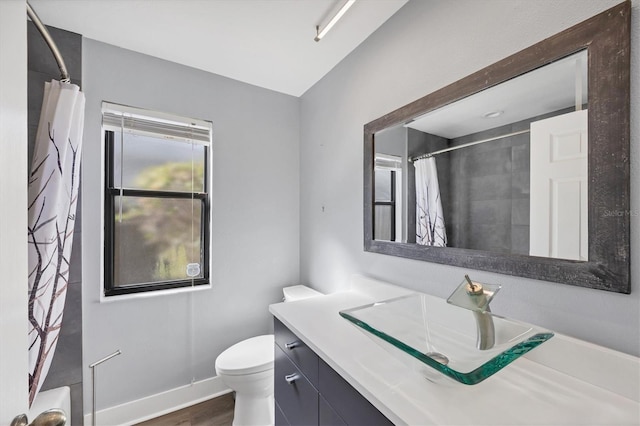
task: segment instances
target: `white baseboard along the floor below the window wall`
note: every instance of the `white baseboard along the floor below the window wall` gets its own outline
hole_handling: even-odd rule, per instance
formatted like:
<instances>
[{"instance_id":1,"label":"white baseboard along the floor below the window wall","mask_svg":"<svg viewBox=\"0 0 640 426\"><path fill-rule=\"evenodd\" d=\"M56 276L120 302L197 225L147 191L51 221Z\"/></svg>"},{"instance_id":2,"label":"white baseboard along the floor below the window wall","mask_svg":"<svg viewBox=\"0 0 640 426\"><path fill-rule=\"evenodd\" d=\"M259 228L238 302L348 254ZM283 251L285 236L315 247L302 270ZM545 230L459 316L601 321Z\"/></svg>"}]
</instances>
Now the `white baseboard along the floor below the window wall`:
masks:
<instances>
[{"instance_id":1,"label":"white baseboard along the floor below the window wall","mask_svg":"<svg viewBox=\"0 0 640 426\"><path fill-rule=\"evenodd\" d=\"M231 389L219 377L212 377L100 410L96 413L96 425L129 426L229 392ZM84 424L91 424L91 413L84 415Z\"/></svg>"}]
</instances>

